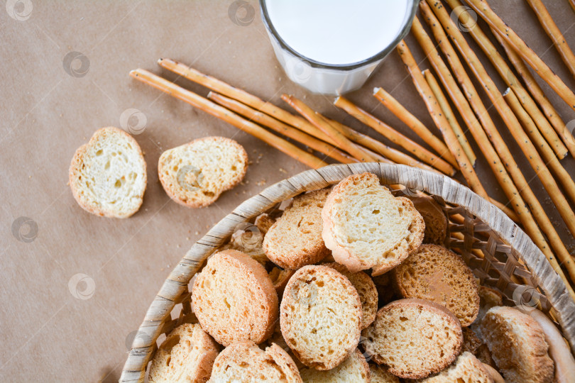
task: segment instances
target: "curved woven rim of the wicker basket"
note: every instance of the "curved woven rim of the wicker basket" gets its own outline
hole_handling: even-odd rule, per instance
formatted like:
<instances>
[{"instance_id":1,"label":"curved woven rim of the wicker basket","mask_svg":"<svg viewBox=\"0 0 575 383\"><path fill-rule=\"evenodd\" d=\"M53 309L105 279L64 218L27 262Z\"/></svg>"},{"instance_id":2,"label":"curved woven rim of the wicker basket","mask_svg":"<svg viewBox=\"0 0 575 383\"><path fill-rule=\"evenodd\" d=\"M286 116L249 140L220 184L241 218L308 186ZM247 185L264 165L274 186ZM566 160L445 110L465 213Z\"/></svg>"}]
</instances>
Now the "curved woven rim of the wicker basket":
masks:
<instances>
[{"instance_id":1,"label":"curved woven rim of the wicker basket","mask_svg":"<svg viewBox=\"0 0 575 383\"><path fill-rule=\"evenodd\" d=\"M184 289L187 289L187 284L202 263L197 259L199 257L205 259L219 248L234 232L236 225L248 221L292 196L304 191L328 187L351 174L363 172L376 174L385 184L403 184L405 187L441 196L449 204L463 206L469 213L486 223L501 239L514 248L525 262L535 282L541 287L549 303L555 309L562 333L571 345L571 350L575 351L575 301L569 296L564 282L554 272L545 255L503 211L468 187L442 174L406 165L362 162L328 165L283 179L250 199L246 199L214 225L208 233L192 245L192 248L165 279L138 328L119 382L143 382L149 355L160 335L163 322L174 308L175 299L184 292Z\"/></svg>"}]
</instances>

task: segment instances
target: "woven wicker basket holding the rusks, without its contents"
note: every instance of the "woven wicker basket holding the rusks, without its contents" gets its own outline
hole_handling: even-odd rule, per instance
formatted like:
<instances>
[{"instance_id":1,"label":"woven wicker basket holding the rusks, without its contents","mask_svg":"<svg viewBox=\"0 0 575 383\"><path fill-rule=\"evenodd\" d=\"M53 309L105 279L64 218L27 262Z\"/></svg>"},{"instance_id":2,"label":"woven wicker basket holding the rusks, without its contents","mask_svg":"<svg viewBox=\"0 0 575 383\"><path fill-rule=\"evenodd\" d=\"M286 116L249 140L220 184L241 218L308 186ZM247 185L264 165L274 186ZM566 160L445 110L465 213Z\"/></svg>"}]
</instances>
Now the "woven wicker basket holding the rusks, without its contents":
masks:
<instances>
[{"instance_id":1,"label":"woven wicker basket holding the rusks, without its contents","mask_svg":"<svg viewBox=\"0 0 575 383\"><path fill-rule=\"evenodd\" d=\"M575 302L542 252L505 213L448 177L403 165L357 163L330 165L284 179L244 201L197 241L150 304L120 382L143 382L158 342L173 328L190 320L190 279L239 224L276 209L282 201L304 191L322 189L362 172L377 174L383 184L401 184L407 190L432 195L450 217L445 245L464 258L482 284L503 293L506 304L515 306L518 300L540 304L558 323L571 350L575 350ZM452 219L456 215L464 220Z\"/></svg>"}]
</instances>

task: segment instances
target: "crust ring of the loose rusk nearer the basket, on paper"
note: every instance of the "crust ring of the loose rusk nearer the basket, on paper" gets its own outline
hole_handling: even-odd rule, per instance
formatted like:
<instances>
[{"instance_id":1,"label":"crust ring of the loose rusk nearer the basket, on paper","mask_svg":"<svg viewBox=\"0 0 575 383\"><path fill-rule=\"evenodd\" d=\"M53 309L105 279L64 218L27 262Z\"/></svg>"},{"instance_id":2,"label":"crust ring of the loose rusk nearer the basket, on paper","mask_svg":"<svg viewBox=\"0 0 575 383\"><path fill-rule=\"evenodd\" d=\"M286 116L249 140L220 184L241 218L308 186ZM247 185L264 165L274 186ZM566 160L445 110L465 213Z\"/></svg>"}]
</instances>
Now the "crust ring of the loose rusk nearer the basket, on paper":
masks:
<instances>
[{"instance_id":1,"label":"crust ring of the loose rusk nearer the basket, on paper","mask_svg":"<svg viewBox=\"0 0 575 383\"><path fill-rule=\"evenodd\" d=\"M234 149L237 150L237 154L241 157L241 160L239 162L236 162L236 165L239 166L239 174L240 175L238 177L236 177L236 179L226 180L227 182L225 182L224 187L222 187L218 193L214 193L213 196L204 196L204 197L198 198L198 199L184 198L184 196L182 196L182 193L180 192L181 188L170 186L174 182L173 182L173 179L171 179L172 177L165 174L165 172L164 172L165 163L163 161L164 155L165 155L165 153L168 152L168 150L163 152L162 155L160 155L160 159L158 160L158 178L160 179L160 183L162 184L162 187L163 187L165 193L168 194L170 199L177 202L177 204L180 204L182 206L187 206L190 208L202 208L202 207L209 206L209 205L213 204L214 201L216 201L219 198L221 193L223 193L226 190L229 190L229 189L236 187L236 185L241 182L243 177L246 175L246 172L248 171L248 154L246 153L246 150L243 148L243 146L241 146L239 143L237 143L235 140L232 140L231 138L219 137L219 136L209 136L209 137L197 138L196 140L192 140L190 143L187 143L187 144L181 145L181 146L186 146L187 148L192 148L192 146L194 144L201 143L202 141L213 141L214 143L218 143L218 142L219 143L225 143L226 145L230 145L231 147L234 147ZM178 148L180 148L180 147L178 147ZM176 149L176 148L172 148L172 149ZM170 150L172 150L172 149L170 149Z\"/></svg>"}]
</instances>

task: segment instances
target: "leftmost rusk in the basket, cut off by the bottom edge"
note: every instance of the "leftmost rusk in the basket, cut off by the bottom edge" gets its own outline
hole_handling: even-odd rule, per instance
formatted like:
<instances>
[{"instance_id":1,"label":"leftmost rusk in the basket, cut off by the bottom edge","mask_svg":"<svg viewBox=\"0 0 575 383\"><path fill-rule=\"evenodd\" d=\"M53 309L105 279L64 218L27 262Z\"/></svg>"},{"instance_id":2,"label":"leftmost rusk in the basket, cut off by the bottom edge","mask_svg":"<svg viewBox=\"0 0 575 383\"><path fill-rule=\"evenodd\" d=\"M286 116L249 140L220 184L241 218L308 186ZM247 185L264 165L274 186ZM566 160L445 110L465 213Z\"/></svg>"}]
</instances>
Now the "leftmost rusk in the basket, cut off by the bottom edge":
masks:
<instances>
[{"instance_id":1,"label":"leftmost rusk in the basket, cut off by the bottom edge","mask_svg":"<svg viewBox=\"0 0 575 383\"><path fill-rule=\"evenodd\" d=\"M212 374L219 345L199 324L185 323L165 338L150 365L150 383L204 383Z\"/></svg>"}]
</instances>

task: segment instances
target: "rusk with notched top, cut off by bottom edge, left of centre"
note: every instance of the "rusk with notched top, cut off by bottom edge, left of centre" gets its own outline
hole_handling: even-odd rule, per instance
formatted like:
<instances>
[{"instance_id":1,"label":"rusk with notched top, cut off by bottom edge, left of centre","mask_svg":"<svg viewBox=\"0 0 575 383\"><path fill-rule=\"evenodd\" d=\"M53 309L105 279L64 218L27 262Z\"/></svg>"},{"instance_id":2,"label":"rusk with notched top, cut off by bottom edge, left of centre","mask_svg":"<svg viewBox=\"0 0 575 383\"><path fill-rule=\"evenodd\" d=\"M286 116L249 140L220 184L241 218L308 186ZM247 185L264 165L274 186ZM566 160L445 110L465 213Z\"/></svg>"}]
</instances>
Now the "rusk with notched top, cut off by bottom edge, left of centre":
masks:
<instances>
[{"instance_id":1,"label":"rusk with notched top, cut off by bottom edge, left of centre","mask_svg":"<svg viewBox=\"0 0 575 383\"><path fill-rule=\"evenodd\" d=\"M275 343L264 351L256 343L243 340L218 355L209 382L300 383L302 378L290 355Z\"/></svg>"}]
</instances>

